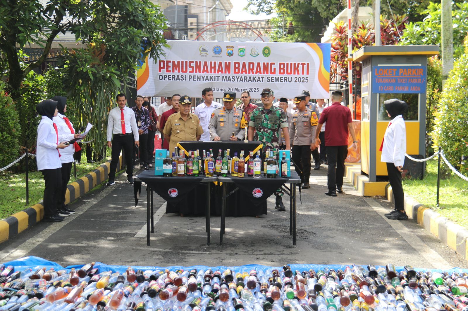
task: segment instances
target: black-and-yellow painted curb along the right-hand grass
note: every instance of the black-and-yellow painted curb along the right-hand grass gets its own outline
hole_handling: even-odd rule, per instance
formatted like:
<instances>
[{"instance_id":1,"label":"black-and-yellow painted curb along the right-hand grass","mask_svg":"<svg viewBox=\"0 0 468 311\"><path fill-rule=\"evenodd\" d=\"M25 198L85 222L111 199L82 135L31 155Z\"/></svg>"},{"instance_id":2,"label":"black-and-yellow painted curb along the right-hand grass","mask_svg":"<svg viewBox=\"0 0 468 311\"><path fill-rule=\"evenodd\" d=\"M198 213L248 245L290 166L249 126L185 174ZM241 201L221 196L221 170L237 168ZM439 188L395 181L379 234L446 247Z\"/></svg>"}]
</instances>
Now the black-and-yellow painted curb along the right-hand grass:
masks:
<instances>
[{"instance_id":1,"label":"black-and-yellow painted curb along the right-hand grass","mask_svg":"<svg viewBox=\"0 0 468 311\"><path fill-rule=\"evenodd\" d=\"M392 203L395 202L390 185L387 186L385 192L387 199ZM468 230L446 219L431 208L420 204L408 195L405 195L405 211L408 218L416 221L445 245L468 260Z\"/></svg>"}]
</instances>

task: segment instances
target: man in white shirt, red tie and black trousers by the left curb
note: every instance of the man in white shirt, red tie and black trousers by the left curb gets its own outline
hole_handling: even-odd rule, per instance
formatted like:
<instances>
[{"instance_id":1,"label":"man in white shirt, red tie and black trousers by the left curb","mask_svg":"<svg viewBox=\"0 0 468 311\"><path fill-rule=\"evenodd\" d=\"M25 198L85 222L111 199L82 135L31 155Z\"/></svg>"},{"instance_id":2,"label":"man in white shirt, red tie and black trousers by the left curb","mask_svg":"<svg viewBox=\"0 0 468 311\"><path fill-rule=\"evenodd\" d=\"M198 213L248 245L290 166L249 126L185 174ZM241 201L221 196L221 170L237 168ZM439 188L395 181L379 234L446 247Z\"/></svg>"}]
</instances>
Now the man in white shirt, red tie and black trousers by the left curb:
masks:
<instances>
[{"instance_id":1,"label":"man in white shirt, red tie and black trousers by the left curb","mask_svg":"<svg viewBox=\"0 0 468 311\"><path fill-rule=\"evenodd\" d=\"M117 162L120 152L124 149L125 163L127 165L127 180L133 184L133 145L139 147L139 134L135 113L126 106L125 94L117 94L117 107L109 113L107 121L107 147L112 148L108 185L115 184ZM114 138L112 138L114 134Z\"/></svg>"}]
</instances>

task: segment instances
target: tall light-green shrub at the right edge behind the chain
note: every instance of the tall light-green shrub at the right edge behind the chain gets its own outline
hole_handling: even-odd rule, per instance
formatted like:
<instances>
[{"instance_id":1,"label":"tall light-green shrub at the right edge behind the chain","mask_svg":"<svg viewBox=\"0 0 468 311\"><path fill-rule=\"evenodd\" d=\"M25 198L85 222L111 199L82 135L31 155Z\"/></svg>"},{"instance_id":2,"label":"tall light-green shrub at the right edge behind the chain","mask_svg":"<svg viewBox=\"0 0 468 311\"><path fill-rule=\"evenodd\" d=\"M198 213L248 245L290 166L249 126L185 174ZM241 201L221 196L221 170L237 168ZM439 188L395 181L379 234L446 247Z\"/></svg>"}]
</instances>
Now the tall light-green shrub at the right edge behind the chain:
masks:
<instances>
[{"instance_id":1,"label":"tall light-green shrub at the right edge behind the chain","mask_svg":"<svg viewBox=\"0 0 468 311\"><path fill-rule=\"evenodd\" d=\"M465 54L453 64L453 70L444 85L440 106L435 113L432 137L434 148L441 147L447 160L460 166L468 175L468 165L461 165L461 156L468 156L468 40Z\"/></svg>"}]
</instances>

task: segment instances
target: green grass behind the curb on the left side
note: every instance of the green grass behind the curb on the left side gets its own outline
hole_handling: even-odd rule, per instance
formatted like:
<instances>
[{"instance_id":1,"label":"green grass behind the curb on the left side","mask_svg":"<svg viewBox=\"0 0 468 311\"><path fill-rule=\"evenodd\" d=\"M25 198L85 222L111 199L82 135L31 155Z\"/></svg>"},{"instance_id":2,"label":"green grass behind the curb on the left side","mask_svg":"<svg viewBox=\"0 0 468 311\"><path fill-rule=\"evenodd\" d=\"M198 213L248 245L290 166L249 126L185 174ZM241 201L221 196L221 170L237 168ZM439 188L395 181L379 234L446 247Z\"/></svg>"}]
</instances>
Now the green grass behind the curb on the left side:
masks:
<instances>
[{"instance_id":1,"label":"green grass behind the curb on the left side","mask_svg":"<svg viewBox=\"0 0 468 311\"><path fill-rule=\"evenodd\" d=\"M107 148L106 156L106 160L86 163L86 154L82 152L81 164L76 164L76 178L85 176L110 159L110 148ZM73 166L71 176L70 182L74 180ZM41 172L29 172L29 205L26 205L26 174L8 171L0 173L0 219L37 204L43 197L44 178Z\"/></svg>"}]
</instances>

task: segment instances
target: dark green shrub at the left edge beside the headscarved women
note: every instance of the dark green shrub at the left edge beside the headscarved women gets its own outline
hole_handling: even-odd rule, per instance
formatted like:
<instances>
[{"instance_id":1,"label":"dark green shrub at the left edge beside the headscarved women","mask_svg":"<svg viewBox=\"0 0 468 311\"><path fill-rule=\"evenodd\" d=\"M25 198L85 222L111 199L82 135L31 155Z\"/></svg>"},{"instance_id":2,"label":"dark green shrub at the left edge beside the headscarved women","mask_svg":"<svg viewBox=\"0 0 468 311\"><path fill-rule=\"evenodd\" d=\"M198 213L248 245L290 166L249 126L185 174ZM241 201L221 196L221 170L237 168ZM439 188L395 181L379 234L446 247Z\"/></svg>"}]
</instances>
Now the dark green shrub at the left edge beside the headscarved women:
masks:
<instances>
[{"instance_id":1,"label":"dark green shrub at the left edge beside the headscarved women","mask_svg":"<svg viewBox=\"0 0 468 311\"><path fill-rule=\"evenodd\" d=\"M0 167L7 166L20 155L21 128L13 100L5 92L5 83L0 81Z\"/></svg>"}]
</instances>

